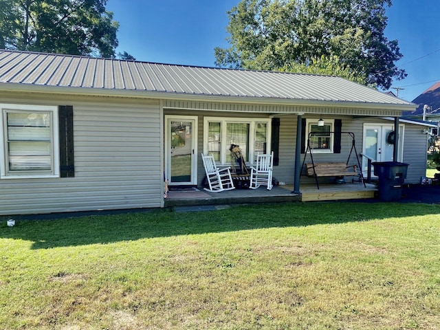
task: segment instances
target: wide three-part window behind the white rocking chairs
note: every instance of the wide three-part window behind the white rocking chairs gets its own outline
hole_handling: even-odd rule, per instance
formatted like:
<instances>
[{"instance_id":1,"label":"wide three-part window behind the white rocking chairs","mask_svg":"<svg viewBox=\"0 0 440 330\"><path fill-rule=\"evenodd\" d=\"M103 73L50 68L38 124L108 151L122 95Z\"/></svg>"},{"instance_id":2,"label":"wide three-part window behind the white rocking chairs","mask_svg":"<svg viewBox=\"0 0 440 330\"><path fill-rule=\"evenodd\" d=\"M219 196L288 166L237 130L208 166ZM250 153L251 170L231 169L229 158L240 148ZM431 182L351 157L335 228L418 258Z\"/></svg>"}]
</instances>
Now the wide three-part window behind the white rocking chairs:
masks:
<instances>
[{"instance_id":1,"label":"wide three-part window behind the white rocking chairs","mask_svg":"<svg viewBox=\"0 0 440 330\"><path fill-rule=\"evenodd\" d=\"M238 144L245 161L254 164L258 153L269 153L270 119L205 118L203 153L216 162L230 164L230 145Z\"/></svg>"}]
</instances>

